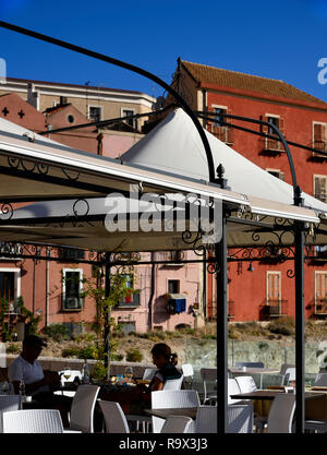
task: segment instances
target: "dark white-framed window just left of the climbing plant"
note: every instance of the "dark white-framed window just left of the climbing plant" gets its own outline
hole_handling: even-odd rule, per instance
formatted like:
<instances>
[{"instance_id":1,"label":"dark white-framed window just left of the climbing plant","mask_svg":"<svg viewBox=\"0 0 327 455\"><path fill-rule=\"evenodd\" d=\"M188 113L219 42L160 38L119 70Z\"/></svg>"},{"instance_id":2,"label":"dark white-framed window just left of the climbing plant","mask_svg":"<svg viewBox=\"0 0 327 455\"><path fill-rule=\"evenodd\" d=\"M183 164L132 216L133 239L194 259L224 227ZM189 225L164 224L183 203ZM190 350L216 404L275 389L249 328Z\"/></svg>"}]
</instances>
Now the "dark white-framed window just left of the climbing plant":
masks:
<instances>
[{"instance_id":1,"label":"dark white-framed window just left of the climbing plant","mask_svg":"<svg viewBox=\"0 0 327 455\"><path fill-rule=\"evenodd\" d=\"M83 310L83 271L80 268L63 268L62 271L62 310Z\"/></svg>"}]
</instances>

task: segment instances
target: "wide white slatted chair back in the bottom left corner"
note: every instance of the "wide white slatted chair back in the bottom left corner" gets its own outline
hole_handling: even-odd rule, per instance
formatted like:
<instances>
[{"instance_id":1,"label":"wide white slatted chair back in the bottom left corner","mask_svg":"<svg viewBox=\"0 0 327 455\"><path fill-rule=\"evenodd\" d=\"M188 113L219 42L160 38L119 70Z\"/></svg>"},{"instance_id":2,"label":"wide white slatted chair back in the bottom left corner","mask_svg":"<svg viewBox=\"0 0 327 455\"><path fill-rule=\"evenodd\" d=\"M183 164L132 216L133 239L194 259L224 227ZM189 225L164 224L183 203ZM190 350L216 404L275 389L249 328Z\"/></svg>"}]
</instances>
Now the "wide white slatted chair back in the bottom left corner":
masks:
<instances>
[{"instance_id":1,"label":"wide white slatted chair back in the bottom left corner","mask_svg":"<svg viewBox=\"0 0 327 455\"><path fill-rule=\"evenodd\" d=\"M11 410L2 415L3 433L63 433L58 409Z\"/></svg>"}]
</instances>

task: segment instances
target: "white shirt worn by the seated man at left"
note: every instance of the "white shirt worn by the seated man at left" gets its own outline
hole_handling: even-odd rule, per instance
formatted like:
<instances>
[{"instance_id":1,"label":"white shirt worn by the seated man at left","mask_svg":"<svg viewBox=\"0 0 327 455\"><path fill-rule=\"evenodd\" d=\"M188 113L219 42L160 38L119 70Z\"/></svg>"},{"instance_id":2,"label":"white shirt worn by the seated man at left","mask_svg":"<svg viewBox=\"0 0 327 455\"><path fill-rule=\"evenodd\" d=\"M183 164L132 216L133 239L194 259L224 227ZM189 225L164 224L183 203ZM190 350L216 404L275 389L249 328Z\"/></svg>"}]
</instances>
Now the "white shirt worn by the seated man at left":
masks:
<instances>
[{"instance_id":1,"label":"white shirt worn by the seated man at left","mask_svg":"<svg viewBox=\"0 0 327 455\"><path fill-rule=\"evenodd\" d=\"M45 378L44 370L37 360L34 363L27 362L22 356L19 356L8 369L8 379L10 382L24 381L25 384L33 384L34 382L41 381ZM32 392L35 395L39 392L49 392L48 385L43 385Z\"/></svg>"}]
</instances>

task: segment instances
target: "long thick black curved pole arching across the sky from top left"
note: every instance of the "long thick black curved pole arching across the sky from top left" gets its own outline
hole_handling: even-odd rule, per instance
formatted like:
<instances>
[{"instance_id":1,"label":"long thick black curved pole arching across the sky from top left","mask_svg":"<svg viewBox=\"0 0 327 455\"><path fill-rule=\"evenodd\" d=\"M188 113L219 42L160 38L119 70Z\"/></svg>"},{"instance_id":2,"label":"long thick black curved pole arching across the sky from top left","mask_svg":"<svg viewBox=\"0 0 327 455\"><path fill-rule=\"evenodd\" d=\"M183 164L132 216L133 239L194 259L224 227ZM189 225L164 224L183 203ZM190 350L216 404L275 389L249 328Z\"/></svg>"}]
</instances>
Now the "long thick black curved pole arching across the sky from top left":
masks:
<instances>
[{"instance_id":1,"label":"long thick black curved pole arching across the sky from top left","mask_svg":"<svg viewBox=\"0 0 327 455\"><path fill-rule=\"evenodd\" d=\"M40 39L41 41L50 43L52 45L73 50L73 51L78 52L78 53L83 53L84 56L93 57L97 60L102 60L107 63L116 64L117 67L121 67L121 68L124 68L126 70L133 71L135 73L138 73L138 74L156 82L158 85L160 85L167 92L169 92L170 95L172 95L174 97L174 99L178 101L178 104L184 109L184 111L191 117L194 125L196 127L196 129L198 131L198 134L202 139L202 142L203 142L206 155L207 155L209 180L213 183L216 182L214 158L213 158L211 148L210 148L208 139L206 136L206 133L204 131L204 128L199 123L198 118L195 116L195 113L193 112L191 107L187 105L187 103L180 96L179 93L177 93L173 88L171 88L171 86L168 85L165 81L162 81L161 79L159 79L155 74L153 74L153 73L150 73L146 70L143 70L142 68L135 67L134 64L130 64L130 63L126 63L124 61L114 59L112 57L108 57L108 56L105 56L102 53L95 52L95 51L89 50L89 49L85 49L81 46L72 45L72 44L63 41L61 39L52 38L50 36L44 35L44 34L38 33L38 32L29 31L27 28L20 27L17 25L10 24L10 23L3 22L3 21L0 21L0 27L7 28L7 29L10 29L10 31L13 31L13 32L17 32L17 33L21 33L21 34L26 35L26 36L31 36L32 38Z\"/></svg>"}]
</instances>

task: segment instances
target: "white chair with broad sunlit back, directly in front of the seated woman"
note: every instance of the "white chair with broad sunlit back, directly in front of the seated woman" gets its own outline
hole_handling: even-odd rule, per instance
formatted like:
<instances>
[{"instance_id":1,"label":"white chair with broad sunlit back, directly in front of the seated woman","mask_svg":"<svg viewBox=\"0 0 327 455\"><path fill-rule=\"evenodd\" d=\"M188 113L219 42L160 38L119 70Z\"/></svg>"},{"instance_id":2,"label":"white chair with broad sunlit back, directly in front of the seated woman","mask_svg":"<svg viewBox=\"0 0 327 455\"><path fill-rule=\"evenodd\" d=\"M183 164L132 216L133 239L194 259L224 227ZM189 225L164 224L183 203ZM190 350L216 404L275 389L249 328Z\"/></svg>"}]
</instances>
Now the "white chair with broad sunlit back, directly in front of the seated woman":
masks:
<instances>
[{"instance_id":1,"label":"white chair with broad sunlit back, directly in front of the seated woman","mask_svg":"<svg viewBox=\"0 0 327 455\"><path fill-rule=\"evenodd\" d=\"M197 408L199 398L197 391L157 391L152 392L152 408ZM160 433L165 419L153 416L153 432Z\"/></svg>"}]
</instances>

